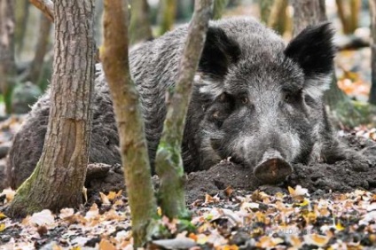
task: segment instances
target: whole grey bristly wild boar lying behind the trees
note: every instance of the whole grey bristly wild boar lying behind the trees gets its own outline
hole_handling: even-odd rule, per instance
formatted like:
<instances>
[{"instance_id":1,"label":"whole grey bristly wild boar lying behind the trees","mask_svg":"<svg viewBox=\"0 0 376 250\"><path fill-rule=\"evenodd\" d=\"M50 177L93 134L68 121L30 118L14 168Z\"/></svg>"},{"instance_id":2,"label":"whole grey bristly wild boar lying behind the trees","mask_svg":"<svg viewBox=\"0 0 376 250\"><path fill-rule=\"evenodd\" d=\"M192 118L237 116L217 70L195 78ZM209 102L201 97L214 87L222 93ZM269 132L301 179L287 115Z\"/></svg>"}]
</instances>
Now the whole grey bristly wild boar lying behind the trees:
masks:
<instances>
[{"instance_id":1,"label":"whole grey bristly wild boar lying behind the trees","mask_svg":"<svg viewBox=\"0 0 376 250\"><path fill-rule=\"evenodd\" d=\"M175 84L186 34L187 26L180 27L130 51L152 168L166 91ZM273 184L293 171L292 163L360 160L335 137L322 101L332 78L332 39L328 23L307 27L286 45L256 20L211 22L185 123L185 171L208 169L231 157ZM90 162L120 163L111 96L100 66L92 103ZM49 107L47 93L14 138L6 170L13 188L32 173L42 153Z\"/></svg>"}]
</instances>

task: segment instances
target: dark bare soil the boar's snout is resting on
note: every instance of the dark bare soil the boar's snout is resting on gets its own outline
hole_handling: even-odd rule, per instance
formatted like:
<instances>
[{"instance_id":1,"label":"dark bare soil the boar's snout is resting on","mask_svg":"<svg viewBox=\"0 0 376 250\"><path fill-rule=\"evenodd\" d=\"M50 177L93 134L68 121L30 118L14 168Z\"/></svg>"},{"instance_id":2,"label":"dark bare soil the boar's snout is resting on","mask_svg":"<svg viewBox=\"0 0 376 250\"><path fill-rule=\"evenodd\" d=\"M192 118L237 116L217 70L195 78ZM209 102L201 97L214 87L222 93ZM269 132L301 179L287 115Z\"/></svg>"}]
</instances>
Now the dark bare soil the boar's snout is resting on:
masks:
<instances>
[{"instance_id":1,"label":"dark bare soil the boar's snout is resting on","mask_svg":"<svg viewBox=\"0 0 376 250\"><path fill-rule=\"evenodd\" d=\"M189 204L197 199L205 199L205 195L223 194L231 187L233 190L255 191L257 189L273 194L287 191L287 187L301 185L307 188L312 196L323 197L332 192L347 192L364 189L376 192L376 143L364 137L348 135L343 140L357 152L364 155L369 166L354 166L348 160L335 164L316 163L309 166L294 164L294 172L286 181L278 185L262 185L254 176L252 169L243 168L228 160L206 170L187 175L185 189ZM90 172L90 171L89 171ZM94 170L95 172L95 170ZM97 171L98 172L98 171ZM89 197L98 198L98 191L117 191L124 189L122 169L119 165L108 166L106 175L92 175L86 187ZM158 177L153 177L153 184L158 189Z\"/></svg>"}]
</instances>

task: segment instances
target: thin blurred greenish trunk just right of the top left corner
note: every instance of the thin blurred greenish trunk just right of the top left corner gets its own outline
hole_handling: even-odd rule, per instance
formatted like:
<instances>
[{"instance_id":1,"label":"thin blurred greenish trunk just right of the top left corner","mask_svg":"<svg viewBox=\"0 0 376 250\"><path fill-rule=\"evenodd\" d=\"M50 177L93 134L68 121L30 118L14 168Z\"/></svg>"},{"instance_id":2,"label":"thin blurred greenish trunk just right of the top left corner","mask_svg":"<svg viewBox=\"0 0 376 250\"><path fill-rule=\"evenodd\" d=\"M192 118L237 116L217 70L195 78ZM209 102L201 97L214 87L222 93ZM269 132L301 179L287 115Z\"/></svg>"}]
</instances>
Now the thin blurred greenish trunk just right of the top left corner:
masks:
<instances>
[{"instance_id":1,"label":"thin blurred greenish trunk just right of the top left corner","mask_svg":"<svg viewBox=\"0 0 376 250\"><path fill-rule=\"evenodd\" d=\"M15 35L15 45L17 57L20 58L20 54L23 50L24 38L27 30L27 19L30 10L30 3L27 0L16 0L15 2L15 16L16 16L16 27L14 31Z\"/></svg>"}]
</instances>

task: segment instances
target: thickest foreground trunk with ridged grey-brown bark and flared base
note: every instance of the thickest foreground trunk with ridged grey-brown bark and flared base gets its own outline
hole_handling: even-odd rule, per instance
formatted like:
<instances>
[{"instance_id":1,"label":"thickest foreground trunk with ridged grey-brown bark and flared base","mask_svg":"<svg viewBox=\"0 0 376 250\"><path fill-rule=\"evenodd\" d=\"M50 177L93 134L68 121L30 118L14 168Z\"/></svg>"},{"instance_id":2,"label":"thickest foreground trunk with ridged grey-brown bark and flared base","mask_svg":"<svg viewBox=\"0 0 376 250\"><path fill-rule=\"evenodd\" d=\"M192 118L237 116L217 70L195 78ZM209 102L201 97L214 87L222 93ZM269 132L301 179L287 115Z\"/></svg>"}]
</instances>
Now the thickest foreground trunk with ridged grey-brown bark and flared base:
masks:
<instances>
[{"instance_id":1,"label":"thickest foreground trunk with ridged grey-brown bark and flared base","mask_svg":"<svg viewBox=\"0 0 376 250\"><path fill-rule=\"evenodd\" d=\"M94 82L92 0L55 0L50 119L41 159L8 214L23 216L82 204Z\"/></svg>"}]
</instances>

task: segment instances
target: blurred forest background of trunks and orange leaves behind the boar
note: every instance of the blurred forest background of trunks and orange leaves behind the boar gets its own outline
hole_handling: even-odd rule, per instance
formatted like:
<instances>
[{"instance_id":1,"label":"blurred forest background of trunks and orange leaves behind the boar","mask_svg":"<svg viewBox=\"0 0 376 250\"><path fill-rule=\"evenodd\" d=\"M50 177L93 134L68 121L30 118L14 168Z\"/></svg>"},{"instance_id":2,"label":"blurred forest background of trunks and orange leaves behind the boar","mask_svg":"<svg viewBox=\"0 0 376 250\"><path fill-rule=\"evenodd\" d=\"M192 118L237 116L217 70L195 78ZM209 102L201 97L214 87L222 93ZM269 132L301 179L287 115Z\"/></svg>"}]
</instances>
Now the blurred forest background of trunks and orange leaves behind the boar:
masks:
<instances>
[{"instance_id":1,"label":"blurred forest background of trunks and orange leaves behind the boar","mask_svg":"<svg viewBox=\"0 0 376 250\"><path fill-rule=\"evenodd\" d=\"M95 38L100 51L103 1L96 0L96 2ZM129 33L133 44L158 37L169 29L189 21L194 3L193 0L133 0L130 2L132 7L130 8ZM266 25L283 35L287 43L293 36L293 17L296 11L291 2L288 0L218 0L215 2L215 19L239 15L261 19ZM374 1L325 1L326 16L337 30L335 36L335 43L339 49L335 59L337 83L340 89L355 101L353 103L356 103L356 106L364 106L369 101L376 104L376 97L370 99L372 89L370 46L372 12L370 9L372 9L372 2ZM9 48L11 55L4 56L4 48L0 47L0 53L3 53L0 55L2 56L1 65L5 68L5 71L0 70L0 74L5 74L0 75L0 118L2 120L10 113L27 113L29 105L42 95L51 79L53 58L53 23L51 20L48 20L29 1L11 0L8 3L12 4L7 7L6 15L14 20L14 37L10 36L13 39ZM5 15L2 14L2 16L4 19ZM0 23L2 22L4 24L4 20L2 21L0 17ZM373 88L372 92L376 92L375 89ZM369 105L366 106L364 116L369 118ZM363 108L359 110L360 113L364 111ZM361 123L371 124L374 120L374 115L371 115L371 119Z\"/></svg>"}]
</instances>

